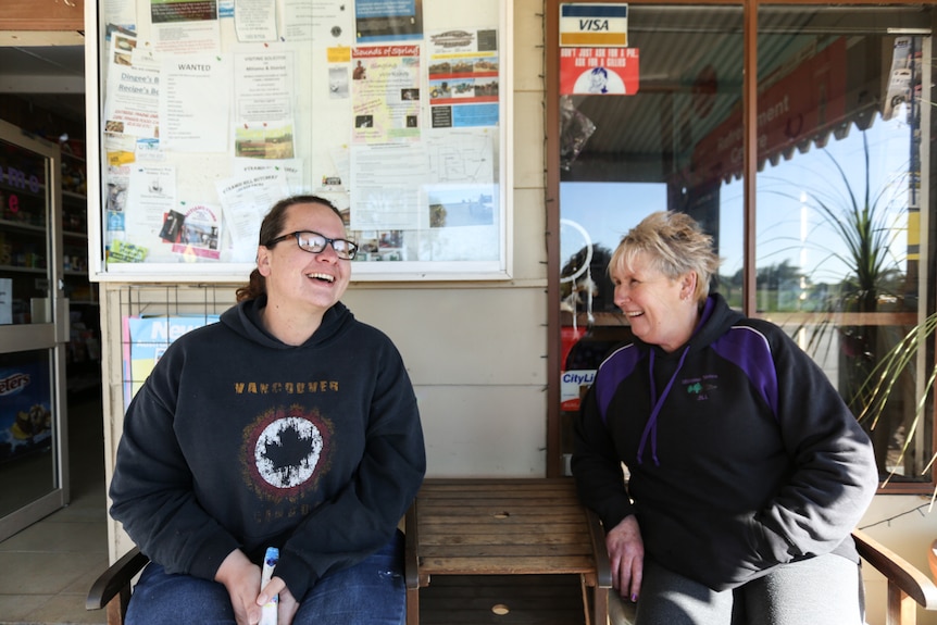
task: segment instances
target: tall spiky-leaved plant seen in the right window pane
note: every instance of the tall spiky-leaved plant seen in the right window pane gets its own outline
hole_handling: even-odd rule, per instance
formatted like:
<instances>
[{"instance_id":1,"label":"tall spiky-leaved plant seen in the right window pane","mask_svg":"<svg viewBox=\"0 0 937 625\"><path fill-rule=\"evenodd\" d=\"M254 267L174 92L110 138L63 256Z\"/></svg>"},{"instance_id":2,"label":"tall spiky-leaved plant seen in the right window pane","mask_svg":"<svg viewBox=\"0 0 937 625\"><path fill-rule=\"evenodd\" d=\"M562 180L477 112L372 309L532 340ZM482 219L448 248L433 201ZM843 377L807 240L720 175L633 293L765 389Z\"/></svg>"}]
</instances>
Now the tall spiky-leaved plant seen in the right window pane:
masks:
<instances>
[{"instance_id":1,"label":"tall spiky-leaved plant seen in the right window pane","mask_svg":"<svg viewBox=\"0 0 937 625\"><path fill-rule=\"evenodd\" d=\"M861 184L851 184L840 162L824 150L823 153L833 165L832 171L836 173L830 176L828 188L810 189L797 196L777 190L765 192L808 203L821 218L820 225L811 233L812 237L808 238L808 245L813 242L812 249L822 250L825 254L817 266L823 268L830 261L838 260L847 267L839 282L833 285L832 297L826 300L824 310L832 314L819 322L811 320L810 324L804 323L796 329L804 330L808 351L820 359L825 355L819 353L823 346L829 349L836 345L836 341L828 340L830 333L838 335L839 391L876 439L879 470L883 475L889 474L890 478L896 470L889 470L888 464L895 462L892 466L898 466L910 449L927 405L935 372L928 377L924 391L913 400L917 404L915 417L910 425L905 425L904 439L899 442L898 459L889 459L890 462L886 462L885 455L892 433L882 423L884 411L889 405L889 399L896 397L894 391L899 388L899 380L907 378L905 372L914 373L917 349L924 347L937 322L933 316L928 317L928 323L915 326L902 339L901 332L896 333L894 328L841 324L837 323L833 314L877 312L883 301L900 310L904 303L902 293L907 290L903 288L905 275L902 259L895 253L898 249L895 243L907 232L899 222L907 211L900 193L907 189L907 179L902 176L873 192L869 138L865 133L862 133L862 149L864 166ZM835 243L830 241L832 236L835 236ZM797 247L803 245L804 241L797 240ZM895 347L885 347L890 345ZM909 370L909 366L912 368Z\"/></svg>"}]
</instances>

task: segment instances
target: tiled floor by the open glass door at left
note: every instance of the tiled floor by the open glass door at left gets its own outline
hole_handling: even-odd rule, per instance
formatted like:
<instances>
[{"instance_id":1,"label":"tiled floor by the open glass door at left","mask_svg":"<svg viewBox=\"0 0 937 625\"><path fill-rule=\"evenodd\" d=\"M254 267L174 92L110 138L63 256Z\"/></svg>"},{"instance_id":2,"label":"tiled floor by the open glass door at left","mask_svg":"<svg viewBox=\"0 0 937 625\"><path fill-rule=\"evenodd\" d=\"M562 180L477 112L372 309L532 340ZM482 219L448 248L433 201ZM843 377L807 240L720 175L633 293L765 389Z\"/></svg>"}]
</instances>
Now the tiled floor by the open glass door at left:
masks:
<instances>
[{"instance_id":1,"label":"tiled floor by the open glass door at left","mask_svg":"<svg viewBox=\"0 0 937 625\"><path fill-rule=\"evenodd\" d=\"M0 625L104 624L85 596L108 564L100 389L70 398L72 501L0 542Z\"/></svg>"}]
</instances>

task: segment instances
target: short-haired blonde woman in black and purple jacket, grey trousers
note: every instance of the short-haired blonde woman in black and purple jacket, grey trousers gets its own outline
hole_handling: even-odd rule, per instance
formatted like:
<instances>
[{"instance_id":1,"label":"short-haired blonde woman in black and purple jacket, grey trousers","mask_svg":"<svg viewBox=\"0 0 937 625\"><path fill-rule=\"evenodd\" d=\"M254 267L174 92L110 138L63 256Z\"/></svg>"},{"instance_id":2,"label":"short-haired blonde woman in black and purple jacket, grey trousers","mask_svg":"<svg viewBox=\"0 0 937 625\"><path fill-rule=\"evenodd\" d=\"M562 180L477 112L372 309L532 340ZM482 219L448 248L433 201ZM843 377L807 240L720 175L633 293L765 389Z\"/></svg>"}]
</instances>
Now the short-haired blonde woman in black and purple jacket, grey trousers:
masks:
<instances>
[{"instance_id":1,"label":"short-haired blonde woman in black and purple jacket, grey trousers","mask_svg":"<svg viewBox=\"0 0 937 625\"><path fill-rule=\"evenodd\" d=\"M598 370L572 467L613 585L637 625L859 625L872 445L780 328L709 295L717 267L711 237L666 212L609 265L635 339Z\"/></svg>"}]
</instances>

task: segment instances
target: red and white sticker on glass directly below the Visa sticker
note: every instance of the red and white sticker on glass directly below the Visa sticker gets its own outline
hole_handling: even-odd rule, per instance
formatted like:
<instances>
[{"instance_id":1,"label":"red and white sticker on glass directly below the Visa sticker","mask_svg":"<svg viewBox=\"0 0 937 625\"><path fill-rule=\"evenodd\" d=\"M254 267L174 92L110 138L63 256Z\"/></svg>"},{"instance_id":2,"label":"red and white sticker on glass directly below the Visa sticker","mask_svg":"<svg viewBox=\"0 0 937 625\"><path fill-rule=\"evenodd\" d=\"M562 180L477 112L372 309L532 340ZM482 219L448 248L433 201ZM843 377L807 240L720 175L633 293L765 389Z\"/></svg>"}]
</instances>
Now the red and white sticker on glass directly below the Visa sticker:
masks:
<instances>
[{"instance_id":1,"label":"red and white sticker on glass directly below the Visa sticker","mask_svg":"<svg viewBox=\"0 0 937 625\"><path fill-rule=\"evenodd\" d=\"M563 96L634 96L638 92L637 48L562 48L560 93Z\"/></svg>"}]
</instances>

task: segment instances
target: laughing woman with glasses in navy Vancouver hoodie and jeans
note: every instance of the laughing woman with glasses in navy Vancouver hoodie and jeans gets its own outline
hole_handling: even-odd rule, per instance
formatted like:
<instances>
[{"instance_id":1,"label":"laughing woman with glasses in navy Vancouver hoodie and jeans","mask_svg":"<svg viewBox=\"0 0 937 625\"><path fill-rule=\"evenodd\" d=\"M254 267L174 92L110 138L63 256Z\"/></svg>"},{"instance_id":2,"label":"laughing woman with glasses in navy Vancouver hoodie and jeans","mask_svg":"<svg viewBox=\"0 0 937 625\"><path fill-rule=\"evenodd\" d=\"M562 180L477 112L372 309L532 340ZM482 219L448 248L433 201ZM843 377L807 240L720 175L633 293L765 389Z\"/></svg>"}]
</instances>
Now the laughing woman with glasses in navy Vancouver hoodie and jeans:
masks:
<instances>
[{"instance_id":1,"label":"laughing woman with glasses in navy Vancouver hoodie and jeans","mask_svg":"<svg viewBox=\"0 0 937 625\"><path fill-rule=\"evenodd\" d=\"M237 305L173 342L130 403L111 514L151 563L128 625L255 624L274 597L278 625L403 623L397 526L423 433L393 343L339 301L346 236L322 198L274 205Z\"/></svg>"}]
</instances>

